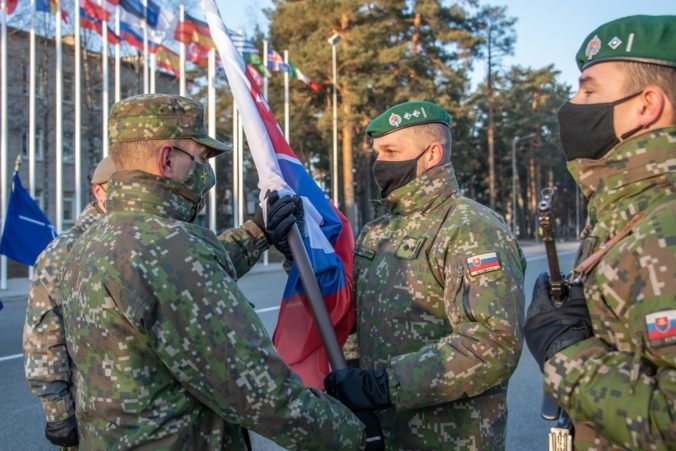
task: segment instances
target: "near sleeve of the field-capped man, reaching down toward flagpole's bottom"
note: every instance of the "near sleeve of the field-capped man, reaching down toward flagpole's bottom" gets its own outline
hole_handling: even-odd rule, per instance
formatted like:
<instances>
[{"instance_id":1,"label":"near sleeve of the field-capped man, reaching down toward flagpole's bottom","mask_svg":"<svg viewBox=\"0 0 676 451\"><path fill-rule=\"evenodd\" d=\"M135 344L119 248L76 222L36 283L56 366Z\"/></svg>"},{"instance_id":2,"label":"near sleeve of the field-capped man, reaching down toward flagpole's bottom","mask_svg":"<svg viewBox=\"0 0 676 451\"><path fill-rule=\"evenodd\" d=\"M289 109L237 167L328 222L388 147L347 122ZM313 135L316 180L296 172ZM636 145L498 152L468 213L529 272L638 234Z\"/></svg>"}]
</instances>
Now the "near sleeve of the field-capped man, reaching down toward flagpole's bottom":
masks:
<instances>
[{"instance_id":1,"label":"near sleeve of the field-capped man, reaching down toward flagpole's bottom","mask_svg":"<svg viewBox=\"0 0 676 451\"><path fill-rule=\"evenodd\" d=\"M155 291L144 312L151 346L174 376L224 420L292 449L358 449L362 424L282 361L208 246L171 246L181 288ZM166 274L156 274L162 283ZM171 274L168 275L171 279ZM169 284L172 285L172 284Z\"/></svg>"}]
</instances>

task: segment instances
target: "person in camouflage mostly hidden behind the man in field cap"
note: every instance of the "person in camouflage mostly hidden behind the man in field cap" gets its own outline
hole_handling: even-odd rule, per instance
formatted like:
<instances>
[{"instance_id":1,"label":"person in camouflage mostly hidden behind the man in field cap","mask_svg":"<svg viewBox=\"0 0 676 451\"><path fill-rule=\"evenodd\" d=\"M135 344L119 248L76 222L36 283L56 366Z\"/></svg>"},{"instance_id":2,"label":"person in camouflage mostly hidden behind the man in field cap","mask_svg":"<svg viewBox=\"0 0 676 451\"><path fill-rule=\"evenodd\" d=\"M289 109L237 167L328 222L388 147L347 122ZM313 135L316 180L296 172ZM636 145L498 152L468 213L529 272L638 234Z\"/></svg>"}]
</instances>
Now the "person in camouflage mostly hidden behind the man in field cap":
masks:
<instances>
[{"instance_id":1,"label":"person in camouflage mostly hidden behind the man in field cap","mask_svg":"<svg viewBox=\"0 0 676 451\"><path fill-rule=\"evenodd\" d=\"M45 411L45 436L54 445L75 446L78 441L74 387L61 316L59 285L63 265L75 241L105 213L106 188L113 172L112 160L104 158L92 175L95 200L35 262L23 332L24 368L28 387L40 398Z\"/></svg>"}]
</instances>

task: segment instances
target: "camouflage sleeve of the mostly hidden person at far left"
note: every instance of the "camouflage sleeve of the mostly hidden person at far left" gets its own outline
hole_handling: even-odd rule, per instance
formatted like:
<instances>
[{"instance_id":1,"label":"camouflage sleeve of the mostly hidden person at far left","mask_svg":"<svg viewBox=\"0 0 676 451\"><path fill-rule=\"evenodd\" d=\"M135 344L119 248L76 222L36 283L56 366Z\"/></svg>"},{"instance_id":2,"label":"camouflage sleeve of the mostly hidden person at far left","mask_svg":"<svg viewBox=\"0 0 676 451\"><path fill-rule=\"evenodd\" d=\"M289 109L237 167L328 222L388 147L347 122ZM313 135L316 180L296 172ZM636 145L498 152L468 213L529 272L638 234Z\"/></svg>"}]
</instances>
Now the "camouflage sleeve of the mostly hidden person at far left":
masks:
<instances>
[{"instance_id":1,"label":"camouflage sleeve of the mostly hidden person at far left","mask_svg":"<svg viewBox=\"0 0 676 451\"><path fill-rule=\"evenodd\" d=\"M65 249L48 248L38 258L23 331L26 382L31 392L40 398L47 421L75 415L58 291L58 262L65 255Z\"/></svg>"}]
</instances>

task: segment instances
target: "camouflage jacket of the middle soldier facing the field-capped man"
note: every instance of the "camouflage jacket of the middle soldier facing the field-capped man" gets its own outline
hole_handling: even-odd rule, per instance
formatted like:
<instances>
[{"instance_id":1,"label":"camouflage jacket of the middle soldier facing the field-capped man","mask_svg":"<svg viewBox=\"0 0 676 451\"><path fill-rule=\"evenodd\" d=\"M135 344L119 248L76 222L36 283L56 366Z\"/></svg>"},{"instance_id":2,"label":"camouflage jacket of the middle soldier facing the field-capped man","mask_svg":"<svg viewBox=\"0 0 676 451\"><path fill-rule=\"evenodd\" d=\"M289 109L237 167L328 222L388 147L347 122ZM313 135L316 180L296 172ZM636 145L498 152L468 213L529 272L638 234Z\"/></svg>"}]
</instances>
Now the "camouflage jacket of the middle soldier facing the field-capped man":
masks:
<instances>
[{"instance_id":1,"label":"camouflage jacket of the middle soldier facing the field-capped man","mask_svg":"<svg viewBox=\"0 0 676 451\"><path fill-rule=\"evenodd\" d=\"M355 247L362 368L386 368L387 449L503 449L522 349L525 259L502 219L462 197L450 164L386 199Z\"/></svg>"}]
</instances>

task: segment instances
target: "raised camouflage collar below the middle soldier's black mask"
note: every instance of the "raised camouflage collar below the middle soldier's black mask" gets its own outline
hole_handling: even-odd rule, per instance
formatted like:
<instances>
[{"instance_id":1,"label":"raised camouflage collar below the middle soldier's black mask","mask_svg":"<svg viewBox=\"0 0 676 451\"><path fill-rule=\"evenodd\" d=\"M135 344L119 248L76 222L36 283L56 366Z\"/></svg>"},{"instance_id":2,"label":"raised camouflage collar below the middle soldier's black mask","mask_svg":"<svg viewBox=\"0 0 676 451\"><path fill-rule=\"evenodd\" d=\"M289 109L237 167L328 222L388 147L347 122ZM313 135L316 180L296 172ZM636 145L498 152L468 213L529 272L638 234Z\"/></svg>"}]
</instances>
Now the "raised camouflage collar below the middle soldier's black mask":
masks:
<instances>
[{"instance_id":1,"label":"raised camouflage collar below the middle soldier's black mask","mask_svg":"<svg viewBox=\"0 0 676 451\"><path fill-rule=\"evenodd\" d=\"M394 215L407 215L416 211L427 211L444 202L458 191L453 165L446 163L436 166L416 177L401 188L392 191L383 200Z\"/></svg>"}]
</instances>

